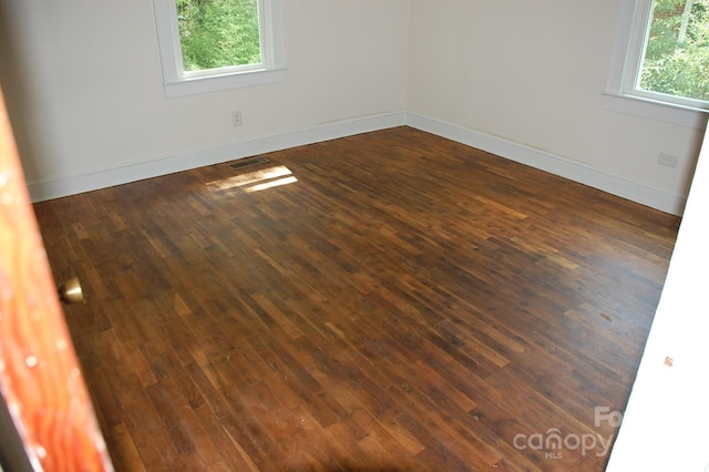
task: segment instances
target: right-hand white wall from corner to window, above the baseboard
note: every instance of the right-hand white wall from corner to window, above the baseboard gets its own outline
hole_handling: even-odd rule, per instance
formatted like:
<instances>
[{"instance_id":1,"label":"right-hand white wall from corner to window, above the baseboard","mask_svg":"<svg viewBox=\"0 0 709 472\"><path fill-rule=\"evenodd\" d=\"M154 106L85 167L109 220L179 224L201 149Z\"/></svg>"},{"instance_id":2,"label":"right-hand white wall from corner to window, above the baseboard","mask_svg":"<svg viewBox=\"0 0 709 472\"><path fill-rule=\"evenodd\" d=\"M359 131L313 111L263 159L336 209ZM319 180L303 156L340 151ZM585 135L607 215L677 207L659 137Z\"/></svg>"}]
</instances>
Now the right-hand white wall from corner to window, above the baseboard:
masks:
<instances>
[{"instance_id":1,"label":"right-hand white wall from corner to window, above the baseboard","mask_svg":"<svg viewBox=\"0 0 709 472\"><path fill-rule=\"evenodd\" d=\"M603 106L619 7L412 0L409 111L685 196L701 131ZM659 166L660 152L679 166Z\"/></svg>"}]
</instances>

